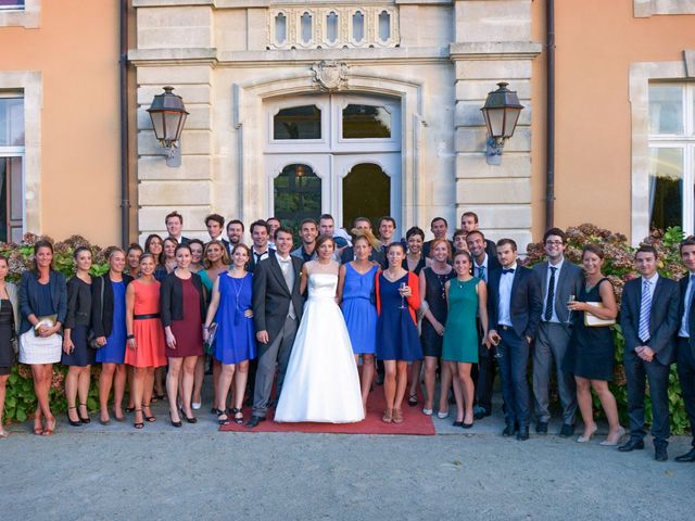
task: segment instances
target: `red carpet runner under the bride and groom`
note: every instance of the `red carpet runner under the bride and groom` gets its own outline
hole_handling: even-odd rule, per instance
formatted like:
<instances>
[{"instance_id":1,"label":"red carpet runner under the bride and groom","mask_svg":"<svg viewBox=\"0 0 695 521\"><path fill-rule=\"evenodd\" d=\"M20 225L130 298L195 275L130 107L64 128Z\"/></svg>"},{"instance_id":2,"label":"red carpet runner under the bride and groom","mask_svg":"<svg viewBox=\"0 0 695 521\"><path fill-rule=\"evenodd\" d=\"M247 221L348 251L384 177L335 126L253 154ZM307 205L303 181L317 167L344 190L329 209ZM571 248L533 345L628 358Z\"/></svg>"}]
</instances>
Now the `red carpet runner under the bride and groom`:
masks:
<instances>
[{"instance_id":1,"label":"red carpet runner under the bride and groom","mask_svg":"<svg viewBox=\"0 0 695 521\"><path fill-rule=\"evenodd\" d=\"M271 414L266 421L258 423L255 429L249 429L245 422L251 418L251 409L244 408L244 424L230 423L220 427L224 432L315 432L329 434L414 434L421 436L434 435L434 425L429 416L422 414L422 399L415 407L408 407L403 402L403 417L401 424L384 423L381 416L384 410L383 387L377 386L369 394L367 418L359 423L276 423L271 421Z\"/></svg>"}]
</instances>

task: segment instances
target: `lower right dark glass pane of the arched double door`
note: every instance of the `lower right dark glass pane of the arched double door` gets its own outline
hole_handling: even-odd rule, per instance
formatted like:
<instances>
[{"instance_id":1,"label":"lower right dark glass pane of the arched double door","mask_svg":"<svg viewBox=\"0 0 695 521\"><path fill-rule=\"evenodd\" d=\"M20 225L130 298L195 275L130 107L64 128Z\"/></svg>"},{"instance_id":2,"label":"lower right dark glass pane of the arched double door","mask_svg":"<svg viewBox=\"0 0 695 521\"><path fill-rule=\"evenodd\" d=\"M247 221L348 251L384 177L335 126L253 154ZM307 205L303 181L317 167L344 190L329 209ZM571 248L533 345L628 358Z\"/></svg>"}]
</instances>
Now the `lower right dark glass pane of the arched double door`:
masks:
<instances>
[{"instance_id":1,"label":"lower right dark glass pane of the arched double door","mask_svg":"<svg viewBox=\"0 0 695 521\"><path fill-rule=\"evenodd\" d=\"M379 165L355 165L343 179L343 226L356 217L378 223L384 215L391 215L391 178Z\"/></svg>"}]
</instances>

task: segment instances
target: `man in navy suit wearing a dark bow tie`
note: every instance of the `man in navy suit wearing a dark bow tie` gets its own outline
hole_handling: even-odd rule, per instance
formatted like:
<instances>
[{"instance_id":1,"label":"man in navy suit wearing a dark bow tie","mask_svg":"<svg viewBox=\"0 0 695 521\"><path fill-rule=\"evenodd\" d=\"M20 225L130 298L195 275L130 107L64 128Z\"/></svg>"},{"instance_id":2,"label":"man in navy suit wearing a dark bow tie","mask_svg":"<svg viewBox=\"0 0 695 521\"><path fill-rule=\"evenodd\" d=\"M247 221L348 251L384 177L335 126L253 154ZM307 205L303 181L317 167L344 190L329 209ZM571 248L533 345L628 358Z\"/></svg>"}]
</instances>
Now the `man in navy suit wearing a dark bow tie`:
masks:
<instances>
[{"instance_id":1,"label":"man in navy suit wearing a dark bow tie","mask_svg":"<svg viewBox=\"0 0 695 521\"><path fill-rule=\"evenodd\" d=\"M497 347L502 374L506 427L517 440L529 439L529 385L526 379L530 345L539 329L543 301L535 272L517 264L517 244L511 239L497 241L497 260L502 269L490 274L488 284L488 342Z\"/></svg>"}]
</instances>

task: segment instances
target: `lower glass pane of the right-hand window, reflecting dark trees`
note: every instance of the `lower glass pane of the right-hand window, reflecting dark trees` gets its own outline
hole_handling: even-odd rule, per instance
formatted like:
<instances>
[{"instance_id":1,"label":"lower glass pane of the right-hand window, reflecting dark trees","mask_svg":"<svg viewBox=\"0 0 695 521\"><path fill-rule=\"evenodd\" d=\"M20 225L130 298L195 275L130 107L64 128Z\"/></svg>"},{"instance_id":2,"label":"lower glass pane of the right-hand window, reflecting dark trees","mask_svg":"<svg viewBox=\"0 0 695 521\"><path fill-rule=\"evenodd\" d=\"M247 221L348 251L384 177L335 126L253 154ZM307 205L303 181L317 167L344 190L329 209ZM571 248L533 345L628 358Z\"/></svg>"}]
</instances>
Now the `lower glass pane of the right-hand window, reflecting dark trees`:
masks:
<instances>
[{"instance_id":1,"label":"lower glass pane of the right-hand window, reflecting dark trees","mask_svg":"<svg viewBox=\"0 0 695 521\"><path fill-rule=\"evenodd\" d=\"M683 149L649 150L649 227L683 226Z\"/></svg>"}]
</instances>

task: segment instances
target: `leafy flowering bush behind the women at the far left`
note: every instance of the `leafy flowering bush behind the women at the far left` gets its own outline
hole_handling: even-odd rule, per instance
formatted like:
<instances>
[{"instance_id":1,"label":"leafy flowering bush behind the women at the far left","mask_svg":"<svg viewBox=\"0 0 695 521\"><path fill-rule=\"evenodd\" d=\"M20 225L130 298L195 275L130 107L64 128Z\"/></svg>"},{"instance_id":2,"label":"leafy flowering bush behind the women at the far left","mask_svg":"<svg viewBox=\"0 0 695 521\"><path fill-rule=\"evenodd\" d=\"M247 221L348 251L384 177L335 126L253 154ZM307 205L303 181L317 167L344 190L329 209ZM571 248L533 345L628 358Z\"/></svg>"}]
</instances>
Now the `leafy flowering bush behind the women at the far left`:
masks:
<instances>
[{"instance_id":1,"label":"leafy flowering bush behind the women at the far left","mask_svg":"<svg viewBox=\"0 0 695 521\"><path fill-rule=\"evenodd\" d=\"M34 233L25 233L20 244L0 242L0 255L8 258L10 265L10 274L8 280L15 283L18 282L22 274L31 269L34 262L34 244L39 239L46 239L53 243L53 268L65 277L72 277L75 272L73 263L73 252L79 246L87 246L92 253L92 267L90 274L99 277L109 271L109 263L106 256L109 249L102 250L99 246L90 244L80 236L72 236L62 242L54 242L50 237L38 237ZM90 410L97 409L99 405L99 373L101 368L92 367L92 380L89 389L89 399L87 407ZM65 373L67 368L60 364L53 365L53 378L51 381L51 410L54 412L64 412L67 409L67 401L65 399ZM12 368L12 373L8 379L4 420L24 421L36 409L36 395L34 394L34 381L31 379L31 369L23 364Z\"/></svg>"}]
</instances>

